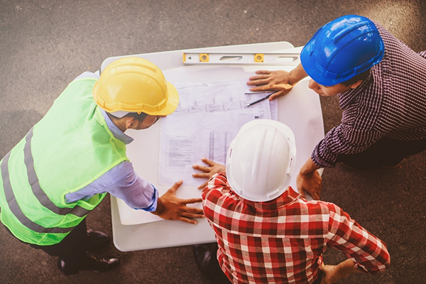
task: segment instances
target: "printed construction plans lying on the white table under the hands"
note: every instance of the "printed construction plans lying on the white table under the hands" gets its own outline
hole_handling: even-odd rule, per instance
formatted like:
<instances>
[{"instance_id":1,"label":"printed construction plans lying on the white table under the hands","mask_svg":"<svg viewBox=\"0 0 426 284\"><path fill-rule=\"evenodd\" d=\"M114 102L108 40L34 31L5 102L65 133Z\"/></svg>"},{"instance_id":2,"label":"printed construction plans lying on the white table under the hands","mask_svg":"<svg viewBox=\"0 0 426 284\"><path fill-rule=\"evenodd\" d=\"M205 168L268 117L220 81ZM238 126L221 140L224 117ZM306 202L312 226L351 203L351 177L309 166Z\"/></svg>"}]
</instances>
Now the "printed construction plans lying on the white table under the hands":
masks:
<instances>
[{"instance_id":1,"label":"printed construction plans lying on the white table under the hands","mask_svg":"<svg viewBox=\"0 0 426 284\"><path fill-rule=\"evenodd\" d=\"M180 178L188 185L200 185L199 179L192 178L193 164L203 164L202 157L224 164L241 126L253 119L278 118L276 101L273 111L268 99L247 107L268 93L249 92L246 80L180 84L178 92L178 109L161 124L160 185Z\"/></svg>"}]
</instances>

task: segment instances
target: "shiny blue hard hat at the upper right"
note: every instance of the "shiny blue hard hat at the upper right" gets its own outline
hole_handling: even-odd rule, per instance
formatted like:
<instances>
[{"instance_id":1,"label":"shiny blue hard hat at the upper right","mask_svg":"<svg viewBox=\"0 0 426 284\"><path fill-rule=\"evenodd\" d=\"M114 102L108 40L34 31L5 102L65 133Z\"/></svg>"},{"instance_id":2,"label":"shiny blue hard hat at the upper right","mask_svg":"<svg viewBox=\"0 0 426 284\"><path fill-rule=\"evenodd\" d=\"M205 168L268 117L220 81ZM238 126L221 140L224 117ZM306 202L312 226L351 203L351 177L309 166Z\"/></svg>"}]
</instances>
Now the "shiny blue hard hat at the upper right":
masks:
<instances>
[{"instance_id":1,"label":"shiny blue hard hat at the upper right","mask_svg":"<svg viewBox=\"0 0 426 284\"><path fill-rule=\"evenodd\" d=\"M300 61L312 80L332 86L376 65L384 51L371 20L346 15L322 26L302 49Z\"/></svg>"}]
</instances>

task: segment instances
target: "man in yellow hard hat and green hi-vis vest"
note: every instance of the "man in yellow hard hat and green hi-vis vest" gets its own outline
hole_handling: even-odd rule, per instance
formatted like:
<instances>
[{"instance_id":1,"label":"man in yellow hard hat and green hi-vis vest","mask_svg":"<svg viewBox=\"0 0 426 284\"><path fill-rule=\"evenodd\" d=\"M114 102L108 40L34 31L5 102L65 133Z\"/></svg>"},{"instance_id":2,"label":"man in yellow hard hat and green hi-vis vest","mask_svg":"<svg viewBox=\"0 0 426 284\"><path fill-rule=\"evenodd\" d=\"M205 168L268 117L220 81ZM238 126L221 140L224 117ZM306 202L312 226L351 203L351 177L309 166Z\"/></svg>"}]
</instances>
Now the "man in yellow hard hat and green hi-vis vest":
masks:
<instances>
[{"instance_id":1,"label":"man in yellow hard hat and green hi-vis vest","mask_svg":"<svg viewBox=\"0 0 426 284\"><path fill-rule=\"evenodd\" d=\"M196 224L200 202L180 200L178 181L164 195L136 175L126 157L126 129L146 129L178 107L178 92L163 72L142 58L121 58L100 77L84 72L1 160L0 217L8 231L58 257L60 272L110 271L119 258L87 254L109 243L87 230L85 217L107 192L134 209Z\"/></svg>"}]
</instances>

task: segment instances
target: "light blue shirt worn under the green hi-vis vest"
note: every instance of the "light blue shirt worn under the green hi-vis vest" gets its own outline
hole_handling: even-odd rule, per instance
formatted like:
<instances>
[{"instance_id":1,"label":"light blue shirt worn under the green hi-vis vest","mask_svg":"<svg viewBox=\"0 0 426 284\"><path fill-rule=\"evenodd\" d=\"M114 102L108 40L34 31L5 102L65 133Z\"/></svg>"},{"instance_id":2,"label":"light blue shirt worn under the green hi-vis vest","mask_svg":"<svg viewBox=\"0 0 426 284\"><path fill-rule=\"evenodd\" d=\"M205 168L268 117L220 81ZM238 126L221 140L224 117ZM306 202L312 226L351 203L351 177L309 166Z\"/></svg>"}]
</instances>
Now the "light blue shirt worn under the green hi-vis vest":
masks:
<instances>
[{"instance_id":1,"label":"light blue shirt worn under the green hi-vis vest","mask_svg":"<svg viewBox=\"0 0 426 284\"><path fill-rule=\"evenodd\" d=\"M94 77L99 79L99 71L96 73L84 72L75 80L84 77ZM126 145L133 141L133 138L124 134L109 118L107 112L101 109L107 126L115 138L123 141ZM76 192L67 193L65 202L75 202L77 200L89 199L93 195L109 192L111 195L124 200L133 209L143 209L153 212L157 209L158 191L147 180L139 177L133 170L133 165L129 161L119 163L104 173L100 178Z\"/></svg>"}]
</instances>

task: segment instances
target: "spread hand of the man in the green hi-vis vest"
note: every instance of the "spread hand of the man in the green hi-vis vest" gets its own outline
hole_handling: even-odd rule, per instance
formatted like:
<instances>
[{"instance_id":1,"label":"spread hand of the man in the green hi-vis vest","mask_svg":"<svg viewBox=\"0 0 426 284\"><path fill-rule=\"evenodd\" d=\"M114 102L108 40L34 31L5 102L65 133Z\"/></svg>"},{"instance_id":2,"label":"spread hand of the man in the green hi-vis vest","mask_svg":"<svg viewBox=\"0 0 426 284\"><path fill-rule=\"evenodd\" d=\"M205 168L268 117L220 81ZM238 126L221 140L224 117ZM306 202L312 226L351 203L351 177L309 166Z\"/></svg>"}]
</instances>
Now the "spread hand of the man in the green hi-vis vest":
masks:
<instances>
[{"instance_id":1,"label":"spread hand of the man in the green hi-vis vest","mask_svg":"<svg viewBox=\"0 0 426 284\"><path fill-rule=\"evenodd\" d=\"M204 218L202 209L195 207L187 207L187 204L202 202L201 198L190 198L187 200L181 200L176 197L176 190L182 185L182 180L175 182L173 187L161 195L157 201L157 209L152 212L158 217L166 220L180 220L182 222L197 224L195 220L190 218Z\"/></svg>"}]
</instances>

